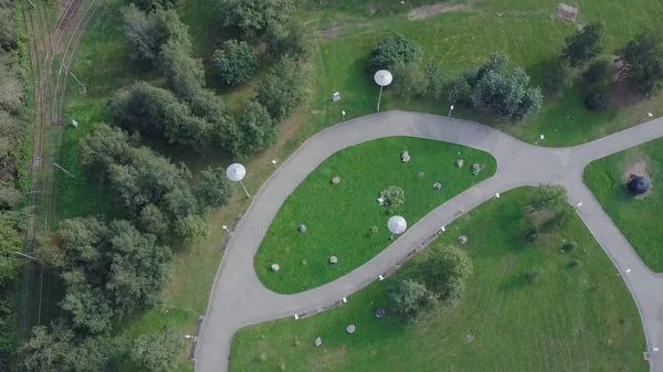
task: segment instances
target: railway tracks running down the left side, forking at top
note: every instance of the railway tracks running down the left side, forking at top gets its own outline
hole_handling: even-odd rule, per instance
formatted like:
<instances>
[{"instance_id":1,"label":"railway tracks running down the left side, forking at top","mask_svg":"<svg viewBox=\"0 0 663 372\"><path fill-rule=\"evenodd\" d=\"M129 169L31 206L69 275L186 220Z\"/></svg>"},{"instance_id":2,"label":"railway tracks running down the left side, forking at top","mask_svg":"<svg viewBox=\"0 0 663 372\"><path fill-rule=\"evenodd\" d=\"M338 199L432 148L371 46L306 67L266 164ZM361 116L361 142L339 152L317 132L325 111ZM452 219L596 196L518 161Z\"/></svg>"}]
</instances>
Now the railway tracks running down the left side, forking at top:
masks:
<instances>
[{"instance_id":1,"label":"railway tracks running down the left side, forking at top","mask_svg":"<svg viewBox=\"0 0 663 372\"><path fill-rule=\"evenodd\" d=\"M33 254L38 238L46 233L55 213L55 170L61 144L62 105L66 81L75 50L90 20L102 0L70 0L50 30L52 19L46 0L22 0L24 26L29 34L31 77L34 87L34 123L32 128L32 162L30 166L30 216L24 252ZM81 9L86 7L85 12ZM73 28L73 30L72 30ZM65 46L66 45L66 46ZM56 57L60 57L56 62ZM24 261L21 284L19 334L21 340L41 325L48 315L49 273L29 259ZM19 360L21 355L19 355ZM17 365L17 371L20 366Z\"/></svg>"}]
</instances>

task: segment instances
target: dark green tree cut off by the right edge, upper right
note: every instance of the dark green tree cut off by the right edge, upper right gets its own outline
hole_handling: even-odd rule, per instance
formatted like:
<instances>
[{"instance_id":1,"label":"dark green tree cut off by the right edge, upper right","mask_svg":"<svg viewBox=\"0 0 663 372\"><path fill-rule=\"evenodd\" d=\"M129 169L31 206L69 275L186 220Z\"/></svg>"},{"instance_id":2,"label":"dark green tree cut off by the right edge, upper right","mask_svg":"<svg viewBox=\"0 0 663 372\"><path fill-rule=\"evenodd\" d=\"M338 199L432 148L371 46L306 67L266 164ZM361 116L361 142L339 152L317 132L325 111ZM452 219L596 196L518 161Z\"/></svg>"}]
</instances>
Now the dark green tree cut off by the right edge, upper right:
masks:
<instances>
[{"instance_id":1,"label":"dark green tree cut off by the right edge, upper right","mask_svg":"<svg viewBox=\"0 0 663 372\"><path fill-rule=\"evenodd\" d=\"M648 32L618 49L620 77L629 81L639 94L650 97L663 85L663 46L656 32Z\"/></svg>"}]
</instances>

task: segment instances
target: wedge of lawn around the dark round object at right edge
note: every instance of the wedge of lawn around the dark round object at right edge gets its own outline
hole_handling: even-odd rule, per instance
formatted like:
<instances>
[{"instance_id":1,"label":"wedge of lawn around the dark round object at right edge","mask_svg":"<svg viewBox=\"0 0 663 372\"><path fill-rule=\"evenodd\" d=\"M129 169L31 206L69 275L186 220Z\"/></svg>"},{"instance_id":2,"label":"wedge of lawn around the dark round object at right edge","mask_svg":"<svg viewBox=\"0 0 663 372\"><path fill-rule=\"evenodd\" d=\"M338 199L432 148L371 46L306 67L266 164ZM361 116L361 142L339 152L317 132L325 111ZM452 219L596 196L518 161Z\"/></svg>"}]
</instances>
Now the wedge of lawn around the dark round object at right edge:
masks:
<instances>
[{"instance_id":1,"label":"wedge of lawn around the dark round object at right edge","mask_svg":"<svg viewBox=\"0 0 663 372\"><path fill-rule=\"evenodd\" d=\"M652 192L645 198L633 198L624 182L629 167L645 163L652 182ZM663 139L611 155L591 162L585 169L585 183L603 210L627 237L649 268L663 273L663 193L659 189L663 163Z\"/></svg>"}]
</instances>

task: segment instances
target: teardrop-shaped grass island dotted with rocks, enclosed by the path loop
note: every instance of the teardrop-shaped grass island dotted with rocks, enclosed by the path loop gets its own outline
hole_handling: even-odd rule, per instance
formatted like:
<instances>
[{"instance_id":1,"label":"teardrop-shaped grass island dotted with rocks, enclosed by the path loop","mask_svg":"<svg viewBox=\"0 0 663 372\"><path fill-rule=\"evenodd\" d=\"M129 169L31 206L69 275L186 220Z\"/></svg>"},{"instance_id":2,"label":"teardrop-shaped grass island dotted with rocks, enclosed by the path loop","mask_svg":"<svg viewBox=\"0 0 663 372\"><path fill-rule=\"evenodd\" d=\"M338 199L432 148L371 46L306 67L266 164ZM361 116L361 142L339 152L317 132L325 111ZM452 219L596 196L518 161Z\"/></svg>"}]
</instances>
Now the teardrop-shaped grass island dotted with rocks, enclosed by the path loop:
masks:
<instances>
[{"instance_id":1,"label":"teardrop-shaped grass island dotted with rocks, enclosed by the path loop","mask_svg":"<svg viewBox=\"0 0 663 372\"><path fill-rule=\"evenodd\" d=\"M401 161L403 150L411 156L409 162ZM455 167L456 159L464 159L462 168ZM473 176L473 163L485 168ZM281 206L255 255L257 275L267 288L284 294L339 278L391 243L387 228L391 215L377 202L381 190L396 185L404 191L404 203L393 214L411 226L495 170L495 159L486 152L429 139L383 138L341 150ZM330 182L335 176L340 177L338 184ZM439 191L433 189L436 182L442 183ZM297 231L301 224L306 232ZM369 236L372 226L378 232ZM338 263L329 264L330 256ZM278 272L270 269L274 263L281 266Z\"/></svg>"}]
</instances>

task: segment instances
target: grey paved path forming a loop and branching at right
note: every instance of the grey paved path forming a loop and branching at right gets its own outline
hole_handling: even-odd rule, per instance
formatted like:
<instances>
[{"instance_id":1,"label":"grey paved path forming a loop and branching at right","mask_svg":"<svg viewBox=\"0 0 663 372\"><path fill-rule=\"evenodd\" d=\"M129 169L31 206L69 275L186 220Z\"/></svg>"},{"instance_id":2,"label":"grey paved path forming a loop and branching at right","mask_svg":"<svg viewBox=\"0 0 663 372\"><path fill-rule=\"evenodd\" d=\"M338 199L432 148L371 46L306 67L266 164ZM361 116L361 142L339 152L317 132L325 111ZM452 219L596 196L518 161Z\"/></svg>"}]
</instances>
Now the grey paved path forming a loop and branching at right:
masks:
<instances>
[{"instance_id":1,"label":"grey paved path forming a loop and branching at right","mask_svg":"<svg viewBox=\"0 0 663 372\"><path fill-rule=\"evenodd\" d=\"M497 160L497 171L433 210L375 258L341 278L295 295L280 295L263 287L253 269L253 256L286 198L334 152L392 136L429 138L487 151ZM582 203L578 214L621 273L638 305L652 351L651 371L663 372L663 276L648 269L582 183L582 171L590 161L662 136L663 119L657 119L582 146L543 148L478 124L403 111L366 116L318 132L263 184L232 234L198 338L196 371L228 371L231 339L236 330L322 308L354 294L440 226L457 219L459 211L470 211L493 199L496 192L554 182L567 187L569 202ZM653 351L659 346L661 352Z\"/></svg>"}]
</instances>

